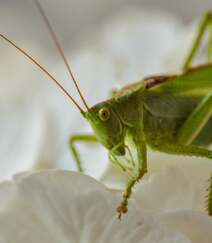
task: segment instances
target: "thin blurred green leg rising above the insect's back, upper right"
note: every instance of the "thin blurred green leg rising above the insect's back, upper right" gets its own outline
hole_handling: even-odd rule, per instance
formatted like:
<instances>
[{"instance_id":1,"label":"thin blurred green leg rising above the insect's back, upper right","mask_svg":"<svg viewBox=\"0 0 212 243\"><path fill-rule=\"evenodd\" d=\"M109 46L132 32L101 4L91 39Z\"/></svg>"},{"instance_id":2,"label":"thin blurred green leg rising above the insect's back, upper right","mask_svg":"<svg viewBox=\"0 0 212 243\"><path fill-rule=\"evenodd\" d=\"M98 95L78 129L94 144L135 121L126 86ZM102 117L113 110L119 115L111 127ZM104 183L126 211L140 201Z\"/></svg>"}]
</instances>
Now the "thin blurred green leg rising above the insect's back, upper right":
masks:
<instances>
[{"instance_id":1,"label":"thin blurred green leg rising above the insect's back, upper right","mask_svg":"<svg viewBox=\"0 0 212 243\"><path fill-rule=\"evenodd\" d=\"M203 16L202 21L200 22L199 29L198 29L197 35L194 39L192 48L189 51L189 53L188 53L188 55L187 55L187 57L186 57L186 59L183 63L183 66L182 66L183 70L186 70L186 69L189 68L195 54L198 51L198 48L201 44L201 41L203 39L203 36L204 36L206 30L211 28L211 25L212 25L212 12L209 11ZM211 55L212 55L212 54L210 54L211 53L210 51L212 49L212 43L210 41L211 41L211 36L209 37L209 43L208 43L208 57L209 57L209 59L211 58Z\"/></svg>"}]
</instances>

